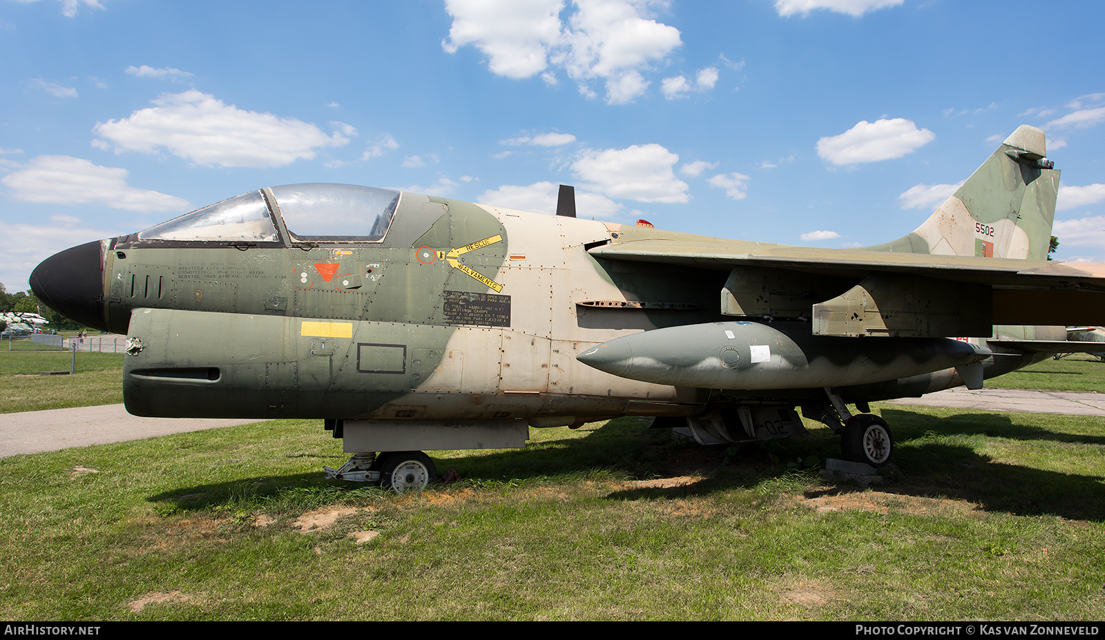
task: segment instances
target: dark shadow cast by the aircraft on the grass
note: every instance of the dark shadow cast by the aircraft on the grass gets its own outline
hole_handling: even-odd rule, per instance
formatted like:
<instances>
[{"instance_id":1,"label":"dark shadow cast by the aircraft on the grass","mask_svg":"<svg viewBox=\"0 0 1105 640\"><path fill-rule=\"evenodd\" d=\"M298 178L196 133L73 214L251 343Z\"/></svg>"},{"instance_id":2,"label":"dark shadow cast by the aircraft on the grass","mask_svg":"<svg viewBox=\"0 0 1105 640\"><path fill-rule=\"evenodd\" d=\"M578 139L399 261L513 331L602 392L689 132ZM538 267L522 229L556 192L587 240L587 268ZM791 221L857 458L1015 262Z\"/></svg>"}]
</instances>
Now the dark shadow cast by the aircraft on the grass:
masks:
<instances>
[{"instance_id":1,"label":"dark shadow cast by the aircraft on the grass","mask_svg":"<svg viewBox=\"0 0 1105 640\"><path fill-rule=\"evenodd\" d=\"M1067 520L1105 522L1098 476L1032 469L996 462L978 454L968 444L955 444L957 437L983 436L1022 442L1059 442L1074 447L1105 444L1105 437L1071 436L1017 423L1006 413L965 413L948 418L908 410L884 410L887 420L899 428L896 438L903 445L897 464L902 478L877 485L877 491L903 496L959 500L977 508L1013 515L1056 515ZM730 453L735 464L722 465L727 448L698 448L672 444L666 430L650 432L640 419L611 420L582 438L564 438L532 443L526 450L438 459L440 471L455 469L463 481L476 486L487 483L527 483L535 480L582 481L590 474L610 471L614 476L650 479L670 475L665 458L694 452L703 460L697 474L702 480L673 487L640 486L611 492L611 500L656 500L709 495L730 490L753 489L766 479L788 471L786 462L797 457L817 455L824 461L834 455L833 437L827 429L809 437L769 443L749 443ZM824 433L822 433L822 431ZM732 452L732 450L729 450ZM768 453L780 462L772 464ZM714 462L709 462L711 458ZM812 472L810 472L812 473ZM149 497L151 502L172 503L180 508L209 508L250 497L281 500L288 491L316 492L334 500L365 490L365 485L323 480L318 473L298 473L244 478L224 483L182 486ZM380 490L368 490L376 492ZM808 492L807 497L841 495L865 491L859 485L839 483L823 491ZM382 495L391 495L383 493ZM318 499L316 499L317 501Z\"/></svg>"}]
</instances>

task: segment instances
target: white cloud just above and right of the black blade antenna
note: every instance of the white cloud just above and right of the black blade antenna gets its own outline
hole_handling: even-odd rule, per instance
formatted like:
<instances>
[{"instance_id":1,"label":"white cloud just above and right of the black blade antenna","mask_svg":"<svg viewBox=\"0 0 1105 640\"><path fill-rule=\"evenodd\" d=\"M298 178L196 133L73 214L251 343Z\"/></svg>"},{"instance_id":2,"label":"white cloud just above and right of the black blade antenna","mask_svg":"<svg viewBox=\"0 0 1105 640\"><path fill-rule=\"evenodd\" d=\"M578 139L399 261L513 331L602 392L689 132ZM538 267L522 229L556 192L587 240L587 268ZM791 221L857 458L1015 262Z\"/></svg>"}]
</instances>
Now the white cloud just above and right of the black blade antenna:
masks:
<instances>
[{"instance_id":1,"label":"white cloud just above and right of the black blade antenna","mask_svg":"<svg viewBox=\"0 0 1105 640\"><path fill-rule=\"evenodd\" d=\"M680 157L657 144L624 149L588 149L571 170L589 187L611 198L640 202L686 202L687 183L672 167Z\"/></svg>"}]
</instances>

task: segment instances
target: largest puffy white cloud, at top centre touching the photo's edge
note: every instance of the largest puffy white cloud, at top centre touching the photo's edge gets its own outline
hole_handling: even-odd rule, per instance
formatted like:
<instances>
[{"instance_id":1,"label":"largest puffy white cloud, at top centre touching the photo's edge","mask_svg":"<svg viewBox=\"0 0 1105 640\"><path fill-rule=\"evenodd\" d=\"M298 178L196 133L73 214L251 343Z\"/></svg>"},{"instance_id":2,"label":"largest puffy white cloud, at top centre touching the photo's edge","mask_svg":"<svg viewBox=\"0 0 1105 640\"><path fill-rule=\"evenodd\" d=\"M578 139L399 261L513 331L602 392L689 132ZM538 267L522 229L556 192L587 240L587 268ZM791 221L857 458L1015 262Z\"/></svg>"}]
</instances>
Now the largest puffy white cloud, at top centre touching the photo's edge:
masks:
<instances>
[{"instance_id":1,"label":"largest puffy white cloud, at top centre touching the photo's edge","mask_svg":"<svg viewBox=\"0 0 1105 640\"><path fill-rule=\"evenodd\" d=\"M609 104L624 104L651 84L641 72L683 43L677 29L652 19L652 6L666 2L575 0L565 23L562 0L446 0L453 23L442 46L455 53L471 44L492 73L515 80L540 74L556 84L555 70L564 70L588 97L598 80Z\"/></svg>"}]
</instances>

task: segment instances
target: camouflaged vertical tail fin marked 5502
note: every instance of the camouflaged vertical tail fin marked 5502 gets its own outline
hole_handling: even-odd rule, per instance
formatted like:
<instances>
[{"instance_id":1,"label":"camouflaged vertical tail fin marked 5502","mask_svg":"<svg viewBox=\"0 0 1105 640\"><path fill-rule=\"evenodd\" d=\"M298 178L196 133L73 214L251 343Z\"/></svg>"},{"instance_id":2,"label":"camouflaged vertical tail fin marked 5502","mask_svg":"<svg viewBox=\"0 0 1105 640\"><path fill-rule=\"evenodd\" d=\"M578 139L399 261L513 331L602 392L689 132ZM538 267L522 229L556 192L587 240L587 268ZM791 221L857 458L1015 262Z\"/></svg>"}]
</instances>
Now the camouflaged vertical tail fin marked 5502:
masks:
<instances>
[{"instance_id":1,"label":"camouflaged vertical tail fin marked 5502","mask_svg":"<svg viewBox=\"0 0 1105 640\"><path fill-rule=\"evenodd\" d=\"M871 251L1046 260L1059 170L1044 133L1021 125L913 233Z\"/></svg>"}]
</instances>

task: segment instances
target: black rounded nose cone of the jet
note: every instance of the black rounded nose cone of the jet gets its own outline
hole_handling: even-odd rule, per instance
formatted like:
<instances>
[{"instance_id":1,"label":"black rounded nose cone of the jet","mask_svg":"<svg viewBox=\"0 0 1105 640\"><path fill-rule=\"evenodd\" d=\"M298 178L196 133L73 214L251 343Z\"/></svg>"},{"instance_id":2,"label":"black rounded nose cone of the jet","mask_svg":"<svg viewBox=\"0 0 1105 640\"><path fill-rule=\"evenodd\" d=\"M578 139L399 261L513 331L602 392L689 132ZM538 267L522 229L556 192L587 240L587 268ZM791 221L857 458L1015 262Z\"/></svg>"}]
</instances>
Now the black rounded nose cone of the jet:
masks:
<instances>
[{"instance_id":1,"label":"black rounded nose cone of the jet","mask_svg":"<svg viewBox=\"0 0 1105 640\"><path fill-rule=\"evenodd\" d=\"M103 273L104 256L97 240L43 260L31 272L31 291L63 316L107 331Z\"/></svg>"}]
</instances>

